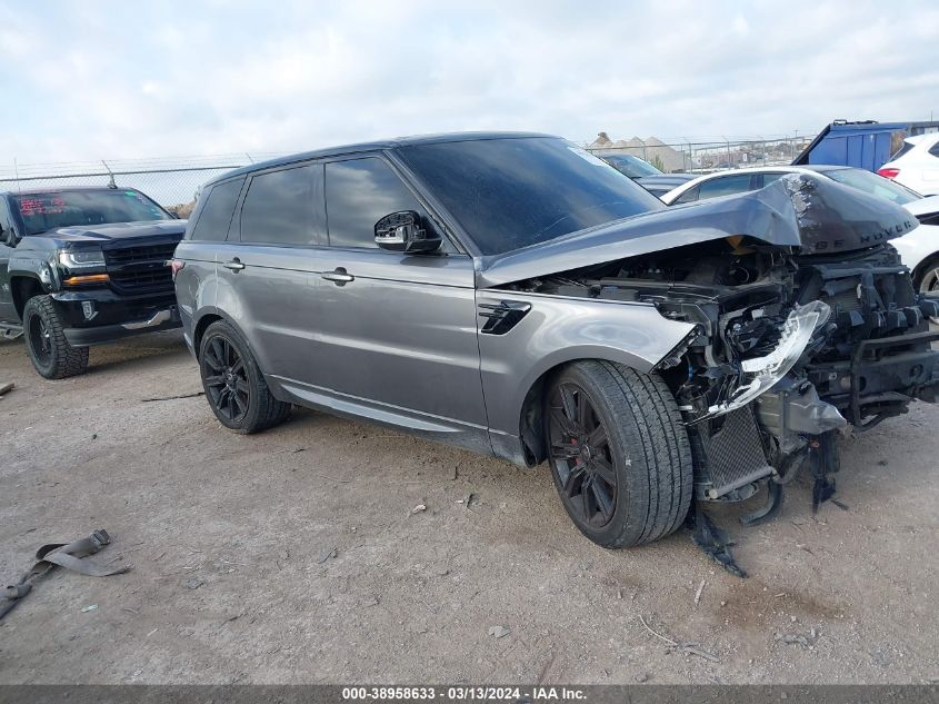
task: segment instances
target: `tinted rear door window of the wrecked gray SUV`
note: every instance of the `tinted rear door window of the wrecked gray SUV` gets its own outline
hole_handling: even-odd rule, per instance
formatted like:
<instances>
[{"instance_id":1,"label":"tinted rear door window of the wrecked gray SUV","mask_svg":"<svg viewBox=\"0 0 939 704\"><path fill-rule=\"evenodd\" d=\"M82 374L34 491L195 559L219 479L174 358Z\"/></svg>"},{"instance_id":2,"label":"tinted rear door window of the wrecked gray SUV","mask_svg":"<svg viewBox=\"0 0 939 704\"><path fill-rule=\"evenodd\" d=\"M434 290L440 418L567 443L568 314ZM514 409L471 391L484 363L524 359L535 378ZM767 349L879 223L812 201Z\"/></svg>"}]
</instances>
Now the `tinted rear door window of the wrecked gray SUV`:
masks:
<instances>
[{"instance_id":1,"label":"tinted rear door window of the wrecked gray SUV","mask_svg":"<svg viewBox=\"0 0 939 704\"><path fill-rule=\"evenodd\" d=\"M316 163L253 177L241 206L241 241L320 244L324 239L317 217L322 209L321 172L322 166Z\"/></svg>"}]
</instances>

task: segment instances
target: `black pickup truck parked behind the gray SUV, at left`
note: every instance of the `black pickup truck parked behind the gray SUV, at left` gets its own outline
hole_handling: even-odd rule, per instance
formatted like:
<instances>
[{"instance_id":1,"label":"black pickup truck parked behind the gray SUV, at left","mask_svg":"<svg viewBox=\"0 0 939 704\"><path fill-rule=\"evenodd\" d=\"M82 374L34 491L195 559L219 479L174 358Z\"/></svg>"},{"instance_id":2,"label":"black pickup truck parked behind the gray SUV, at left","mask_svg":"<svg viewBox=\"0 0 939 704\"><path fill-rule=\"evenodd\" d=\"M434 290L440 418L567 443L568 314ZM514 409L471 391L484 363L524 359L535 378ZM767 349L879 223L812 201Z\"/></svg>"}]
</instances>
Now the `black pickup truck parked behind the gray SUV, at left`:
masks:
<instances>
[{"instance_id":1,"label":"black pickup truck parked behind the gray SUV, at left","mask_svg":"<svg viewBox=\"0 0 939 704\"><path fill-rule=\"evenodd\" d=\"M179 327L168 261L184 230L131 188L0 192L0 336L61 379L89 345Z\"/></svg>"}]
</instances>

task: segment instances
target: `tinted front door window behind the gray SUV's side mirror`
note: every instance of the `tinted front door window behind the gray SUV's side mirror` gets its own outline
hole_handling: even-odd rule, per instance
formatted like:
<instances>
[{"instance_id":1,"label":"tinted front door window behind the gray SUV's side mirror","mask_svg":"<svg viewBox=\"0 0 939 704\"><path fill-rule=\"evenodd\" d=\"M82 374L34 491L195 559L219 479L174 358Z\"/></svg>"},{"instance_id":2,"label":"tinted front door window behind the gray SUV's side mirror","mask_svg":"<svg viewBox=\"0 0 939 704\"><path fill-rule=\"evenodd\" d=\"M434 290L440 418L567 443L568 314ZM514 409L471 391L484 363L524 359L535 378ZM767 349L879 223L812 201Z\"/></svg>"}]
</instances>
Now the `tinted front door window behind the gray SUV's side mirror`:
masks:
<instances>
[{"instance_id":1,"label":"tinted front door window behind the gray SUV's side mirror","mask_svg":"<svg viewBox=\"0 0 939 704\"><path fill-rule=\"evenodd\" d=\"M378 247L374 224L390 212L417 210L418 200L376 157L326 165L326 212L332 247Z\"/></svg>"}]
</instances>

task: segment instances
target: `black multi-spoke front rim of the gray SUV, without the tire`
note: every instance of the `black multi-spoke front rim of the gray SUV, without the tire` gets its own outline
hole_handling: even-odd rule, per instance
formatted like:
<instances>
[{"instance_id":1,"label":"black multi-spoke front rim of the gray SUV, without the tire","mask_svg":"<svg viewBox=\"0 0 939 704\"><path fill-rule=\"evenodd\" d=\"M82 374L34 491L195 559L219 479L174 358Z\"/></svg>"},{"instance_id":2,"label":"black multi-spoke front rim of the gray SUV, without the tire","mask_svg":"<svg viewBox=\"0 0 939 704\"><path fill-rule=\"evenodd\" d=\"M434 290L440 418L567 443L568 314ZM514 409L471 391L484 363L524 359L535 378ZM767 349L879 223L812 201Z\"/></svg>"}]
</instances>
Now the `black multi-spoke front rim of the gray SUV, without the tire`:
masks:
<instances>
[{"instance_id":1,"label":"black multi-spoke front rim of the gray SUV, without the tire","mask_svg":"<svg viewBox=\"0 0 939 704\"><path fill-rule=\"evenodd\" d=\"M555 386L548 428L566 508L586 525L606 526L616 513L617 473L607 430L583 388L571 381Z\"/></svg>"}]
</instances>

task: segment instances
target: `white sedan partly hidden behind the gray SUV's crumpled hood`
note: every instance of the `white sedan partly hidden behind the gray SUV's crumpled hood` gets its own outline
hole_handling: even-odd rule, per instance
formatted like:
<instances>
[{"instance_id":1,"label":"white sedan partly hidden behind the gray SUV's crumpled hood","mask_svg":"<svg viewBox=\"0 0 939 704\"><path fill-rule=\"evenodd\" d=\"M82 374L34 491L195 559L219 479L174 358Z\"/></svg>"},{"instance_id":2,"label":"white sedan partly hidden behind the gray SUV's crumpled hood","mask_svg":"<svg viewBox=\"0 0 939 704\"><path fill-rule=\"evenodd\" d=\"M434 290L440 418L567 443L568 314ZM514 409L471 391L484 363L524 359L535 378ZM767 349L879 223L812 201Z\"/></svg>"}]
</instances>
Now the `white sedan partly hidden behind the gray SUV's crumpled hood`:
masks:
<instances>
[{"instance_id":1,"label":"white sedan partly hidden behind the gray SUV's crumpled hood","mask_svg":"<svg viewBox=\"0 0 939 704\"><path fill-rule=\"evenodd\" d=\"M939 160L937 160L939 161ZM661 196L680 205L757 190L786 173L815 173L903 206L919 220L912 232L890 240L922 292L939 291L939 196L923 198L909 188L865 169L846 166L771 166L708 173Z\"/></svg>"}]
</instances>

